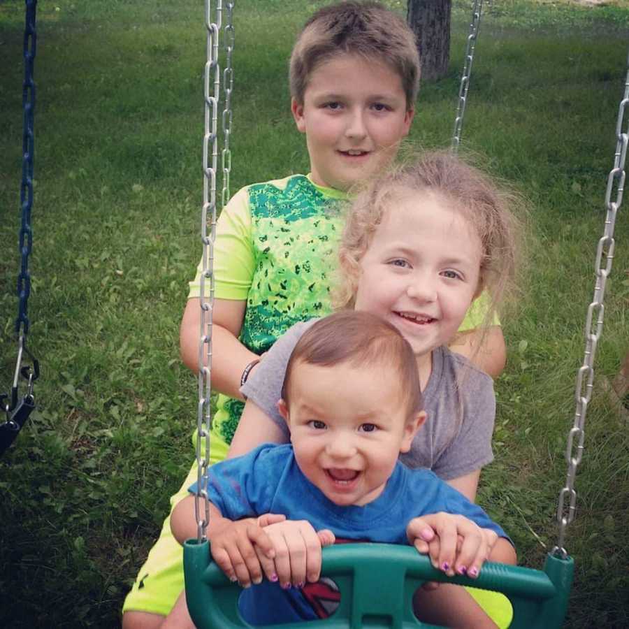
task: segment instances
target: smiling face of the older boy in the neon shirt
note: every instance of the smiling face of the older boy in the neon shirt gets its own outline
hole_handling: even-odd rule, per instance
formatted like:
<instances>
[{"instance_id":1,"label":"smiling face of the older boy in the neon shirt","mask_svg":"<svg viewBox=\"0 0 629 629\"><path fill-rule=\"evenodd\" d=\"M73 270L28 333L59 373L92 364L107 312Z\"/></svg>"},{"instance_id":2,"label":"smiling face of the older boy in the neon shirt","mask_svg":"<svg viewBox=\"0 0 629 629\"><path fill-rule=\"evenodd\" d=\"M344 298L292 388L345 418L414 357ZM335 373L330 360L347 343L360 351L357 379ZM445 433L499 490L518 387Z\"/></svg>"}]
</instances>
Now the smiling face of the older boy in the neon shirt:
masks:
<instances>
[{"instance_id":1,"label":"smiling face of the older boy in the neon shirt","mask_svg":"<svg viewBox=\"0 0 629 629\"><path fill-rule=\"evenodd\" d=\"M291 110L306 135L312 180L338 190L389 166L414 115L395 71L352 54L315 68Z\"/></svg>"}]
</instances>

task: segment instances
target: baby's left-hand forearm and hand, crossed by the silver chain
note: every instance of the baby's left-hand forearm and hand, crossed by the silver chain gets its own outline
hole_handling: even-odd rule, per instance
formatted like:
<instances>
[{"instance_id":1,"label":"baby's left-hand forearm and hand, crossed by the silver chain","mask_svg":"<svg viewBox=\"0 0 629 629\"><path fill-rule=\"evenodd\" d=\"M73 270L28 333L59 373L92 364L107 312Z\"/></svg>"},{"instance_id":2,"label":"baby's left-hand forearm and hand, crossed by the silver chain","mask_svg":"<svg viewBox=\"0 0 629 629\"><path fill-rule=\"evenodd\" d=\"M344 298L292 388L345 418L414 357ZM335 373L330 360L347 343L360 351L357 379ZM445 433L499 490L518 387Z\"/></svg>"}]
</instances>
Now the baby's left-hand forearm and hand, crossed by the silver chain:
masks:
<instances>
[{"instance_id":1,"label":"baby's left-hand forearm and hand, crossed by the silver chain","mask_svg":"<svg viewBox=\"0 0 629 629\"><path fill-rule=\"evenodd\" d=\"M173 537L180 544L196 537L197 526L194 515L195 496L187 496L171 513ZM281 522L285 516L265 514L259 518L232 521L210 503L210 523L206 535L210 540L212 558L231 579L247 588L252 582L261 583L263 571L273 572L275 549L263 526Z\"/></svg>"}]
</instances>

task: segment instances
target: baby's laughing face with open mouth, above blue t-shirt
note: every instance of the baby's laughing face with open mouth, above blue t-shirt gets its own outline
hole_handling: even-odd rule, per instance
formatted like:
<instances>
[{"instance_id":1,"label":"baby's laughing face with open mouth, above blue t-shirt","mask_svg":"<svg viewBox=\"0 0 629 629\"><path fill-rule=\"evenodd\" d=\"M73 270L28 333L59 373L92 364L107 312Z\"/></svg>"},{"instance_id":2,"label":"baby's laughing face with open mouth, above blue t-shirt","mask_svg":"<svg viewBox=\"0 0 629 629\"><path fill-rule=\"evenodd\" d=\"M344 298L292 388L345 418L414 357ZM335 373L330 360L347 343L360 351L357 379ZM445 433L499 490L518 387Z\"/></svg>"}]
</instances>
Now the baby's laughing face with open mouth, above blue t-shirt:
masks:
<instances>
[{"instance_id":1,"label":"baby's laughing face with open mouth, above blue t-shirt","mask_svg":"<svg viewBox=\"0 0 629 629\"><path fill-rule=\"evenodd\" d=\"M366 505L384 490L426 414L408 417L400 375L382 365L298 361L279 408L303 474L337 505Z\"/></svg>"}]
</instances>

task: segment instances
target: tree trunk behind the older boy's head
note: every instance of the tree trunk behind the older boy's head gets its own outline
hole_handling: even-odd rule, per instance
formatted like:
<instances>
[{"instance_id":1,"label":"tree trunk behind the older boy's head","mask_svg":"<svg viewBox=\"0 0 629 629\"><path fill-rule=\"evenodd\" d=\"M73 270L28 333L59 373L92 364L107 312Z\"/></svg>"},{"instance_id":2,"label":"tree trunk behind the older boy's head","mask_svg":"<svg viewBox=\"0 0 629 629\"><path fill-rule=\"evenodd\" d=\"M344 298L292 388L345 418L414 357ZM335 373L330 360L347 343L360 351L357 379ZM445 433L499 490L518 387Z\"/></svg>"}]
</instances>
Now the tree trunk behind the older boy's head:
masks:
<instances>
[{"instance_id":1,"label":"tree trunk behind the older boy's head","mask_svg":"<svg viewBox=\"0 0 629 629\"><path fill-rule=\"evenodd\" d=\"M437 80L447 73L450 6L451 0L408 0L407 22L417 40L422 80Z\"/></svg>"}]
</instances>

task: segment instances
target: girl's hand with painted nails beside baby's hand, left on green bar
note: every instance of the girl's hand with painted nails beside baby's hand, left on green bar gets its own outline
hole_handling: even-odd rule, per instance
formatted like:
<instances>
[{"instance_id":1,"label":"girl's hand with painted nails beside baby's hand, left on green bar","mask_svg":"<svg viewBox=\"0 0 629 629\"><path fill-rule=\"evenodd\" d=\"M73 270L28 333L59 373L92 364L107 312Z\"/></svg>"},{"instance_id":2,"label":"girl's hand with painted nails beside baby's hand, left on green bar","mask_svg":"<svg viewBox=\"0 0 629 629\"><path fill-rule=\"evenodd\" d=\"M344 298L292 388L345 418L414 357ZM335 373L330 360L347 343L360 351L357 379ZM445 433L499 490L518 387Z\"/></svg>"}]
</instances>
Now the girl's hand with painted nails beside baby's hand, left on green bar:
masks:
<instances>
[{"instance_id":1,"label":"girl's hand with painted nails beside baby's hand, left on green bar","mask_svg":"<svg viewBox=\"0 0 629 629\"><path fill-rule=\"evenodd\" d=\"M334 543L331 530L315 531L305 520L286 520L264 527L275 550L275 558L259 552L258 557L269 581L280 581L287 589L315 583L321 572L321 547ZM262 549L261 549L262 550Z\"/></svg>"}]
</instances>

